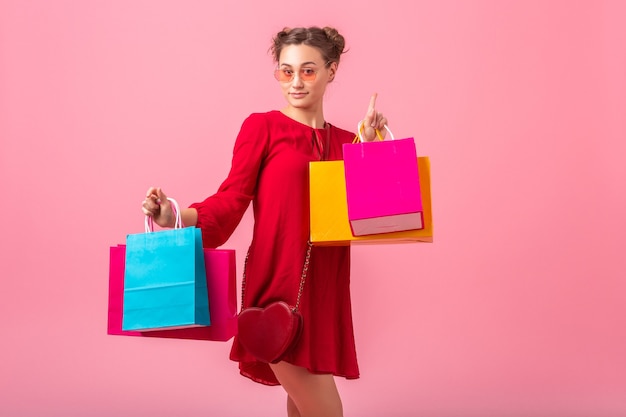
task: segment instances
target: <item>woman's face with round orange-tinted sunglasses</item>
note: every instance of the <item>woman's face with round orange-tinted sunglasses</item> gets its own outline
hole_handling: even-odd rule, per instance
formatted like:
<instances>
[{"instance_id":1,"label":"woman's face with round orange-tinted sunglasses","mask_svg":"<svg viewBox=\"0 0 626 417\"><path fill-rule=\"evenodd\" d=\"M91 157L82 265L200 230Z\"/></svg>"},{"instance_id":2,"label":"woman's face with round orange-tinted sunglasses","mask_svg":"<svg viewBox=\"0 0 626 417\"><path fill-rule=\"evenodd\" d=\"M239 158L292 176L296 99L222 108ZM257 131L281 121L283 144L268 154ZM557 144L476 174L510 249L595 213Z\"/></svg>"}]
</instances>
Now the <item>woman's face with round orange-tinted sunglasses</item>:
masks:
<instances>
[{"instance_id":1,"label":"woman's face with round orange-tinted sunglasses","mask_svg":"<svg viewBox=\"0 0 626 417\"><path fill-rule=\"evenodd\" d=\"M293 74L291 81L279 81L285 99L293 108L317 110L321 108L326 85L335 77L337 64L325 65L321 52L308 45L283 47L278 70L284 75ZM315 72L314 80L305 80Z\"/></svg>"}]
</instances>

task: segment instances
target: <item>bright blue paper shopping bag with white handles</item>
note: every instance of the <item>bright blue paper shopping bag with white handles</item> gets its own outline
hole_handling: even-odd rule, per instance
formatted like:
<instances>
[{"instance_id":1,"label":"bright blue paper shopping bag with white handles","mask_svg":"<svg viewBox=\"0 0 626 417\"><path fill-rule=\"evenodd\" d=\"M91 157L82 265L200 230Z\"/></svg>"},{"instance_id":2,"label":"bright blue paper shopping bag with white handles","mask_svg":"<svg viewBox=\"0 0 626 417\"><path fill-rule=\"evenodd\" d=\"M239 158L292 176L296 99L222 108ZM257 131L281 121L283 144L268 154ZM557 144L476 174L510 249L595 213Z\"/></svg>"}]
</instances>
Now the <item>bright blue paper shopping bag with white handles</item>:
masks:
<instances>
[{"instance_id":1,"label":"bright blue paper shopping bag with white handles","mask_svg":"<svg viewBox=\"0 0 626 417\"><path fill-rule=\"evenodd\" d=\"M170 199L171 200L171 199ZM196 227L176 227L126 237L122 330L164 330L209 326L209 302L202 236Z\"/></svg>"}]
</instances>

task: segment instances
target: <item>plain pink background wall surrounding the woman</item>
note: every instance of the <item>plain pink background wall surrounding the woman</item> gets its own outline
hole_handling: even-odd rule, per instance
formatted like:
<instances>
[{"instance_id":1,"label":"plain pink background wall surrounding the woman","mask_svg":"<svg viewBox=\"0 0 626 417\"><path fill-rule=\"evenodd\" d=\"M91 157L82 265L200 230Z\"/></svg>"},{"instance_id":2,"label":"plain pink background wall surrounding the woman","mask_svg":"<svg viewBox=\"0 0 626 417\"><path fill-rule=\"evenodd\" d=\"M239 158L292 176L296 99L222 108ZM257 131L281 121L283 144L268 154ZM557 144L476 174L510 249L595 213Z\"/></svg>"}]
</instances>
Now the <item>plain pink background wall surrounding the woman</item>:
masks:
<instances>
[{"instance_id":1,"label":"plain pink background wall surrounding the woman","mask_svg":"<svg viewBox=\"0 0 626 417\"><path fill-rule=\"evenodd\" d=\"M270 8L273 10L270 12ZM274 10L278 9L278 10ZM436 242L354 250L346 416L626 415L622 1L0 2L0 415L274 416L230 343L106 335L143 193L214 192L270 37L347 37L326 113L371 93L432 162ZM251 218L225 245L250 239Z\"/></svg>"}]
</instances>

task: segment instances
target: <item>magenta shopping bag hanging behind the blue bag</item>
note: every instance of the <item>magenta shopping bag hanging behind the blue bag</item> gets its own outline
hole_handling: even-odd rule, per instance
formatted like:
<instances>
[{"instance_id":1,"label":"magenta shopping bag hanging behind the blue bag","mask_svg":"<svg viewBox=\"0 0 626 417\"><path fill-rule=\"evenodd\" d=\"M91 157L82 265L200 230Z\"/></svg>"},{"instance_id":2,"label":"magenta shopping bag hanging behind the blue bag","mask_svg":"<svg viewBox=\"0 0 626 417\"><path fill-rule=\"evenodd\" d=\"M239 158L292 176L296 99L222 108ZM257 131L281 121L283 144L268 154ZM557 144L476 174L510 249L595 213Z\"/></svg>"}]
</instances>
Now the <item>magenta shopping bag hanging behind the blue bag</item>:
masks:
<instances>
[{"instance_id":1,"label":"magenta shopping bag hanging behind the blue bag","mask_svg":"<svg viewBox=\"0 0 626 417\"><path fill-rule=\"evenodd\" d=\"M109 258L109 314L107 334L227 341L237 333L237 276L235 251L203 249L211 325L186 329L123 331L124 264L126 245L112 246Z\"/></svg>"}]
</instances>

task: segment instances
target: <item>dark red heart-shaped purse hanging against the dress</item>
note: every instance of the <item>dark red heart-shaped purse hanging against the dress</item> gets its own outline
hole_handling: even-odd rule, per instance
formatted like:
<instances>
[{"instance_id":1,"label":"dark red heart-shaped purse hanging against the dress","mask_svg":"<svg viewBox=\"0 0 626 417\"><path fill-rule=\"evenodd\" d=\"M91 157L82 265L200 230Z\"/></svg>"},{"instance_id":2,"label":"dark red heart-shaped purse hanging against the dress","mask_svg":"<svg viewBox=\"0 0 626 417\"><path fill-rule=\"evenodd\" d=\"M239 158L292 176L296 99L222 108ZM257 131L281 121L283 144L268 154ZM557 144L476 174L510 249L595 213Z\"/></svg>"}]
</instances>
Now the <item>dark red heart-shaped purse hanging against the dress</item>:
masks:
<instances>
[{"instance_id":1,"label":"dark red heart-shaped purse hanging against the dress","mask_svg":"<svg viewBox=\"0 0 626 417\"><path fill-rule=\"evenodd\" d=\"M249 307L237 319L239 341L258 360L276 363L289 352L302 328L302 316L283 301Z\"/></svg>"}]
</instances>

